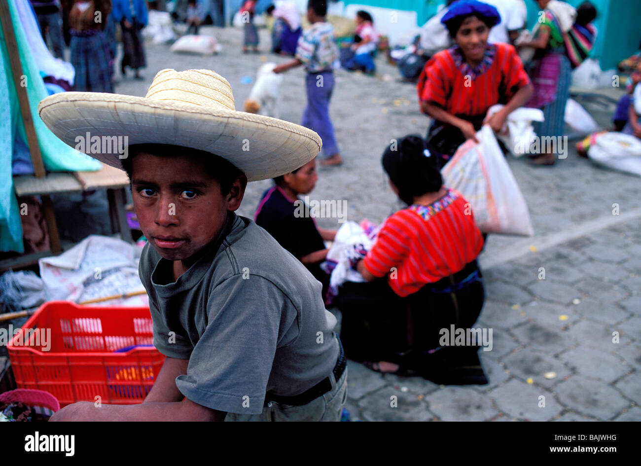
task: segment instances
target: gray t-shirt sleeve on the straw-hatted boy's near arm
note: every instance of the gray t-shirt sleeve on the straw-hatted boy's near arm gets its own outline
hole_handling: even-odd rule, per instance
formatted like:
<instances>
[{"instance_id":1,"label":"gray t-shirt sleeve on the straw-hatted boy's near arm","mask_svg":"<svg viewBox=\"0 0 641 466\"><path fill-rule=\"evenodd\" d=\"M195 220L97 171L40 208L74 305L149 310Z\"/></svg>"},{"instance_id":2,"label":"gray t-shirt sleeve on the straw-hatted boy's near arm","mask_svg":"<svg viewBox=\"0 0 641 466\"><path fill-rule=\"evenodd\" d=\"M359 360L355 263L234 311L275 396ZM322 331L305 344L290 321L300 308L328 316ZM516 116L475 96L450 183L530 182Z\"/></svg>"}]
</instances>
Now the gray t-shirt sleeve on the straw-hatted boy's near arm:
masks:
<instances>
[{"instance_id":1,"label":"gray t-shirt sleeve on the straw-hatted boy's near arm","mask_svg":"<svg viewBox=\"0 0 641 466\"><path fill-rule=\"evenodd\" d=\"M176 386L194 403L229 413L262 412L285 322L296 310L271 281L237 274L213 288L208 325ZM283 325L281 326L281 320Z\"/></svg>"}]
</instances>

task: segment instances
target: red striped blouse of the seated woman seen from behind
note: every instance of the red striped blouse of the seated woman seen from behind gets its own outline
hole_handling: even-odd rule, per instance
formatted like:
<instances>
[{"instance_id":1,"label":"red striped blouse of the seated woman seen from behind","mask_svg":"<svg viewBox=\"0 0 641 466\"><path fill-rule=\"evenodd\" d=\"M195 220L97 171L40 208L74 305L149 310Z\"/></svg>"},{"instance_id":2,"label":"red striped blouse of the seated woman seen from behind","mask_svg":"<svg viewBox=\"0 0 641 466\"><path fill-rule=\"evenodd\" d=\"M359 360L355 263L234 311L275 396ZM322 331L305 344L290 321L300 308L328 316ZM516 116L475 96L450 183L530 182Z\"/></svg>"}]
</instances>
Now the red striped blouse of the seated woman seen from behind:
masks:
<instances>
[{"instance_id":1,"label":"red striped blouse of the seated woman seen from behind","mask_svg":"<svg viewBox=\"0 0 641 466\"><path fill-rule=\"evenodd\" d=\"M459 272L482 248L469 203L450 189L430 206L413 205L389 217L364 265L376 277L388 275L392 290L405 297Z\"/></svg>"}]
</instances>

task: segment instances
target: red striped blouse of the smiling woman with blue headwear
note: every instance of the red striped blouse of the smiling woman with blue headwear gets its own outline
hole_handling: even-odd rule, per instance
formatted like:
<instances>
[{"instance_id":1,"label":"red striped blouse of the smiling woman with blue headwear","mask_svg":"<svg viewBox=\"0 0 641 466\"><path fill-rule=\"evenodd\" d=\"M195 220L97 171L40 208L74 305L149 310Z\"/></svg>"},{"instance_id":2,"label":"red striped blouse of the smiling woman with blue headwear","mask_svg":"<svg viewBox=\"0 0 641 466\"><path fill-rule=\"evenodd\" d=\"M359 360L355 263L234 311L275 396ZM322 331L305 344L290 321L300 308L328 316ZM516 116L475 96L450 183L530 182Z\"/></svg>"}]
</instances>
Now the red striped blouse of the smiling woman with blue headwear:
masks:
<instances>
[{"instance_id":1,"label":"red striped blouse of the smiling woman with blue headwear","mask_svg":"<svg viewBox=\"0 0 641 466\"><path fill-rule=\"evenodd\" d=\"M420 73L417 91L420 102L452 115L485 116L492 105L507 103L529 82L514 47L497 43L488 44L483 62L474 69L458 47L438 52Z\"/></svg>"}]
</instances>

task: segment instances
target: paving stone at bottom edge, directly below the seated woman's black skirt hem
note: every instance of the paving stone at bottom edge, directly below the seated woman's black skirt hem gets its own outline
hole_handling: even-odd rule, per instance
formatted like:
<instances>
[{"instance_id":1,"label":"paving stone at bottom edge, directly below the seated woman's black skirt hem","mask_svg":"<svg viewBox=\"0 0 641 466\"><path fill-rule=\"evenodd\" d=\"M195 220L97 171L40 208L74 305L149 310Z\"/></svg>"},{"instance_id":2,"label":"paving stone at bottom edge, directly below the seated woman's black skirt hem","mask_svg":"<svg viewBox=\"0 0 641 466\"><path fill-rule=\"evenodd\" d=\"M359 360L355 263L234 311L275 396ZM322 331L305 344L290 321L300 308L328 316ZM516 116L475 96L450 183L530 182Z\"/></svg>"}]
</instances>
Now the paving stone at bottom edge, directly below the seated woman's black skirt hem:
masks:
<instances>
[{"instance_id":1,"label":"paving stone at bottom edge, directly below the seated woman's black skirt hem","mask_svg":"<svg viewBox=\"0 0 641 466\"><path fill-rule=\"evenodd\" d=\"M444 387L428 397L429 410L442 420L481 421L492 419L499 412L487 395L467 387Z\"/></svg>"}]
</instances>

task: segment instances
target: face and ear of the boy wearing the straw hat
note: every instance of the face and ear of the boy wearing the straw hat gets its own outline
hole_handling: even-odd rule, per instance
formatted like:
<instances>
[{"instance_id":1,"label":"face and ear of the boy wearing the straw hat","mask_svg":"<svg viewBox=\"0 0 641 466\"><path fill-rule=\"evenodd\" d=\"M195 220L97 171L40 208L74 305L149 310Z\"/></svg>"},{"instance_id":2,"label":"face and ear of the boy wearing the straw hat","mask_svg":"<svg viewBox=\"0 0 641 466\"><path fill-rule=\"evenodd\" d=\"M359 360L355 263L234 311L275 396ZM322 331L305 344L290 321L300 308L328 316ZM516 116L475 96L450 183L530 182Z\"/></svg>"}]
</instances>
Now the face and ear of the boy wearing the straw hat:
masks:
<instances>
[{"instance_id":1,"label":"face and ear of the boy wearing the straw hat","mask_svg":"<svg viewBox=\"0 0 641 466\"><path fill-rule=\"evenodd\" d=\"M221 233L228 211L240 206L246 183L237 178L223 196L220 183L197 158L139 153L132 161L131 196L140 229L158 254L185 267Z\"/></svg>"}]
</instances>

